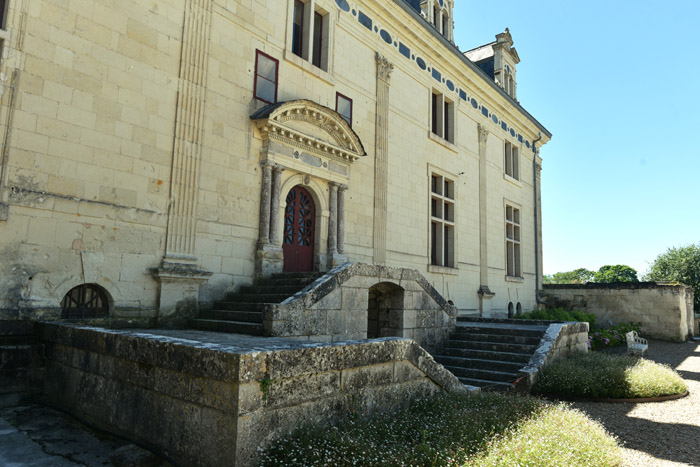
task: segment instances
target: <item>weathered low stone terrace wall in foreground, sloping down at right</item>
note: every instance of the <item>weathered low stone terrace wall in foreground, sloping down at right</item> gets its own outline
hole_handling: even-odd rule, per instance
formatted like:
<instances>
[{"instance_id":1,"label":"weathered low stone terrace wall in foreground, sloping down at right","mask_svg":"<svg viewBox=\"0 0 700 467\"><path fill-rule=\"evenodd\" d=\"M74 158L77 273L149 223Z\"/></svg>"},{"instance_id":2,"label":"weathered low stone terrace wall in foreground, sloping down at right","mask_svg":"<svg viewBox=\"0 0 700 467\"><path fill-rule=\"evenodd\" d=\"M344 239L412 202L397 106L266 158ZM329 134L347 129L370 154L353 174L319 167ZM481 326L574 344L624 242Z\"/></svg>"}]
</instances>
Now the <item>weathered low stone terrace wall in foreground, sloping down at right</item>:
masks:
<instances>
[{"instance_id":1,"label":"weathered low stone terrace wall in foreground, sloping down at right","mask_svg":"<svg viewBox=\"0 0 700 467\"><path fill-rule=\"evenodd\" d=\"M251 465L258 446L305 422L464 390L407 339L341 345L227 335L212 343L212 334L196 340L192 331L40 328L49 400L176 465Z\"/></svg>"}]
</instances>

